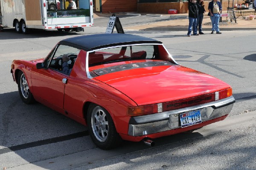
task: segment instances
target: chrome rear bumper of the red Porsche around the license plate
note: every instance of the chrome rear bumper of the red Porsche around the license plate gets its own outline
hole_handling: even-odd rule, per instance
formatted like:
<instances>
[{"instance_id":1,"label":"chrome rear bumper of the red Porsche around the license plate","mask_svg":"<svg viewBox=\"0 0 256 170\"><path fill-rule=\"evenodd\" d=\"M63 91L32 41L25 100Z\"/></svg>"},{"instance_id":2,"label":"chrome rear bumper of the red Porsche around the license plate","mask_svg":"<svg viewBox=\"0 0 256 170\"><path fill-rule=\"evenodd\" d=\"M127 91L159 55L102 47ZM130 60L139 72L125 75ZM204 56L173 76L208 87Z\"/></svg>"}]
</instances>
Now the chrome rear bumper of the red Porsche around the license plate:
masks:
<instances>
[{"instance_id":1,"label":"chrome rear bumper of the red Porsche around the license plate","mask_svg":"<svg viewBox=\"0 0 256 170\"><path fill-rule=\"evenodd\" d=\"M219 118L229 114L233 108L234 103L235 98L230 96L219 101L213 101L198 106L170 110L152 115L131 117L129 122L128 135L148 135L179 128L181 127L179 122L179 114L192 110L200 110L202 122L209 121L214 118Z\"/></svg>"}]
</instances>

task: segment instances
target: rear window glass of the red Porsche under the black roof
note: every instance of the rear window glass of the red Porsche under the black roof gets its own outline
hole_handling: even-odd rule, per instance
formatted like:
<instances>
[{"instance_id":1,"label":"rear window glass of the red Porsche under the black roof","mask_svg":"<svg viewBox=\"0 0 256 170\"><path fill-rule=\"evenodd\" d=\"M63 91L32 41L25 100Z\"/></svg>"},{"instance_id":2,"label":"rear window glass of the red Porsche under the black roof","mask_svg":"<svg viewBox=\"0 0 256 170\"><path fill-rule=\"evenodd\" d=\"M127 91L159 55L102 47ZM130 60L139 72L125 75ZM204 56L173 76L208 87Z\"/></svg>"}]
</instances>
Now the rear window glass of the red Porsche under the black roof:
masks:
<instances>
[{"instance_id":1,"label":"rear window glass of the red Porsche under the black roof","mask_svg":"<svg viewBox=\"0 0 256 170\"><path fill-rule=\"evenodd\" d=\"M89 53L88 64L89 66L95 66L119 61L145 59L165 60L164 58L161 58L159 55L159 46L162 45L131 45L100 49ZM165 51L164 56L169 56L166 50L162 51Z\"/></svg>"}]
</instances>

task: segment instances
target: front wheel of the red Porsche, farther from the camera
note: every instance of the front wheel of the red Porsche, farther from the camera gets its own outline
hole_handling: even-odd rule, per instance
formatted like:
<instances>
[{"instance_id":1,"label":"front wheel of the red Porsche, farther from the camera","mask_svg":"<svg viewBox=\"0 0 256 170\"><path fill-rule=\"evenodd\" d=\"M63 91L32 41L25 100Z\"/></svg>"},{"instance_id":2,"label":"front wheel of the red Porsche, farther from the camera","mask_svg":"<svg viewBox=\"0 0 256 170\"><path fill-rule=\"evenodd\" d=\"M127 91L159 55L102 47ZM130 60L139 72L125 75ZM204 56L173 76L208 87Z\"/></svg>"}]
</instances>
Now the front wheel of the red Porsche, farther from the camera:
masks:
<instances>
[{"instance_id":1,"label":"front wheel of the red Porsche, farther from the camera","mask_svg":"<svg viewBox=\"0 0 256 170\"><path fill-rule=\"evenodd\" d=\"M22 71L18 73L18 89L20 93L20 98L24 103L26 104L35 103L35 99L32 93L29 91L29 85L27 83L26 76Z\"/></svg>"}]
</instances>

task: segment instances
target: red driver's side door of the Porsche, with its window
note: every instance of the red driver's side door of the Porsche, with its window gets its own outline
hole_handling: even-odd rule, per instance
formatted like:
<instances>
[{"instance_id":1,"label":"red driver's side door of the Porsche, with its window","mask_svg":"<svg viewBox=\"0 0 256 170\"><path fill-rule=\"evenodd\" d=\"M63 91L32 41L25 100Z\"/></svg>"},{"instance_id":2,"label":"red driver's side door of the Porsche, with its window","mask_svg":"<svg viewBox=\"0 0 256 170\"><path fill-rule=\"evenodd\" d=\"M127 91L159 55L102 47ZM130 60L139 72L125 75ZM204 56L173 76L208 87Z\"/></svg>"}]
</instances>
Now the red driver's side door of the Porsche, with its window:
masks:
<instances>
[{"instance_id":1,"label":"red driver's side door of the Porsche, with its window","mask_svg":"<svg viewBox=\"0 0 256 170\"><path fill-rule=\"evenodd\" d=\"M34 67L31 74L33 95L63 108L64 89L69 75L62 71L62 56L71 55L74 60L78 53L79 49L58 45L44 61L43 69ZM68 64L72 65L72 61L68 61Z\"/></svg>"}]
</instances>

